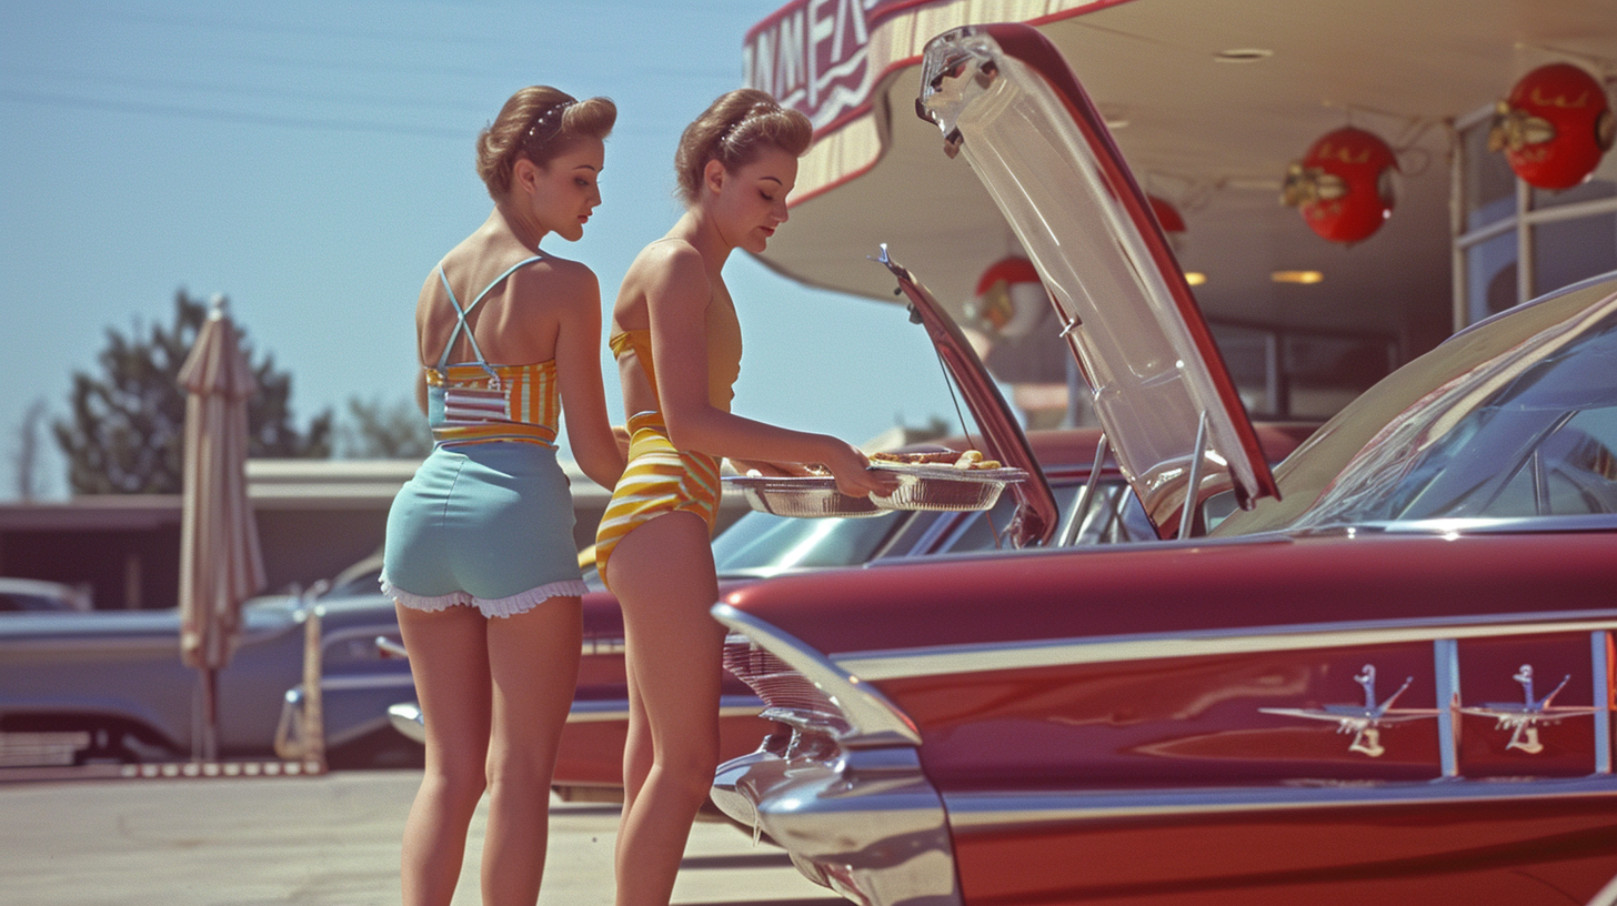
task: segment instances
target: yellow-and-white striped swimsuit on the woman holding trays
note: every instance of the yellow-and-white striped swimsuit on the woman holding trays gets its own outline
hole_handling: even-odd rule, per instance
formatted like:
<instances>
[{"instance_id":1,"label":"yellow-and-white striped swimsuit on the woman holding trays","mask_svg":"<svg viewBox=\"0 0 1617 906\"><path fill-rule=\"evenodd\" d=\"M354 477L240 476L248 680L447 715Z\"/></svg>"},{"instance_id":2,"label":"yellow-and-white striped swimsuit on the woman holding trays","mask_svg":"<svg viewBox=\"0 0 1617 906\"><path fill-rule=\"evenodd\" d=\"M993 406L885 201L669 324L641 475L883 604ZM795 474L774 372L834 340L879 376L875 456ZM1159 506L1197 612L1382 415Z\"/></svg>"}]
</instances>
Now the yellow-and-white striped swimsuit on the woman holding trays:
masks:
<instances>
[{"instance_id":1,"label":"yellow-and-white striped swimsuit on the woman holding trays","mask_svg":"<svg viewBox=\"0 0 1617 906\"><path fill-rule=\"evenodd\" d=\"M657 398L657 374L652 364L652 332L621 330L608 338L613 356L634 356ZM741 325L731 306L708 306L708 403L729 411L731 385L741 374ZM668 440L668 427L660 411L635 413L629 417L629 464L613 489L611 502L595 532L595 566L602 582L611 586L606 563L613 547L637 526L663 513L695 513L708 531L718 519L718 456L695 450L679 450Z\"/></svg>"}]
</instances>

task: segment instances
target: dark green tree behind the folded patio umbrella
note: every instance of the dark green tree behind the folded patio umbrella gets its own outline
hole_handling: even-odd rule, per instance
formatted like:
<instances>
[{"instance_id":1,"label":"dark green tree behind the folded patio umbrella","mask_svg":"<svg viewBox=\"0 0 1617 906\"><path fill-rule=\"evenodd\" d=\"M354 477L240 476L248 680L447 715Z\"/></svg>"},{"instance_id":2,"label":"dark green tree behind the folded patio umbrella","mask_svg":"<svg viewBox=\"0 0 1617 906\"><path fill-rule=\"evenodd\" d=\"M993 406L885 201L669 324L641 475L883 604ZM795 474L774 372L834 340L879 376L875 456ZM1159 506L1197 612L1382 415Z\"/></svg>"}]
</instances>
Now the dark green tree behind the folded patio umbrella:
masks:
<instances>
[{"instance_id":1,"label":"dark green tree behind the folded patio umbrella","mask_svg":"<svg viewBox=\"0 0 1617 906\"><path fill-rule=\"evenodd\" d=\"M52 425L68 458L73 493L179 493L186 392L179 367L186 362L207 306L175 293L173 327L141 325L129 335L107 330L107 348L97 358L100 374L74 372L70 416ZM331 413L315 416L307 432L293 425L288 400L293 379L275 370L265 353L254 361L247 332L236 335L259 392L247 400L247 455L264 458L325 458L331 455Z\"/></svg>"}]
</instances>

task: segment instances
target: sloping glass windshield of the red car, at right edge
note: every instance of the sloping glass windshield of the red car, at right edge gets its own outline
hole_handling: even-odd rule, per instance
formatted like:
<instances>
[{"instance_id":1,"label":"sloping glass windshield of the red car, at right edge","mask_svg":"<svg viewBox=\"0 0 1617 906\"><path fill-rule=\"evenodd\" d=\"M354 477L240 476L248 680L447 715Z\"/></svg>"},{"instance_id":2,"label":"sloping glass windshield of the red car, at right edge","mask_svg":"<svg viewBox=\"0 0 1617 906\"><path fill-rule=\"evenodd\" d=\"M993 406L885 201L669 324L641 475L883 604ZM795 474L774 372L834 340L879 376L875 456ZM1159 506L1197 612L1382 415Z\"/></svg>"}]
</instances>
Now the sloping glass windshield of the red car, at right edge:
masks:
<instances>
[{"instance_id":1,"label":"sloping glass windshield of the red car, at right edge","mask_svg":"<svg viewBox=\"0 0 1617 906\"><path fill-rule=\"evenodd\" d=\"M1295 527L1617 513L1617 314L1408 409Z\"/></svg>"}]
</instances>

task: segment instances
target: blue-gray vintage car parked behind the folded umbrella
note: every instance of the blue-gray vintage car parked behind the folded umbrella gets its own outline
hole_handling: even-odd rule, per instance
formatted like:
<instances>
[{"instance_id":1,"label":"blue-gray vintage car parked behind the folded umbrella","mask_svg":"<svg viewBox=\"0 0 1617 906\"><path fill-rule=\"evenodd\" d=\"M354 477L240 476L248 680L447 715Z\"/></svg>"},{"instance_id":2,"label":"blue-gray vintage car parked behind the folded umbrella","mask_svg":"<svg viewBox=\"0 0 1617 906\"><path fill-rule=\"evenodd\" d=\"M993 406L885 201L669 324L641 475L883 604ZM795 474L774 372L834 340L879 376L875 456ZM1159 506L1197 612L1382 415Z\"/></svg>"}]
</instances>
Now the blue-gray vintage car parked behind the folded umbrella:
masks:
<instances>
[{"instance_id":1,"label":"blue-gray vintage car parked behind the folded umbrella","mask_svg":"<svg viewBox=\"0 0 1617 906\"><path fill-rule=\"evenodd\" d=\"M275 756L278 730L278 754L302 756L283 712L301 696L312 608L327 751L354 760L393 741L385 709L411 694L409 668L377 644L398 642L398 620L372 566L359 563L325 594L267 595L243 608L241 646L218 673L222 757ZM179 660L176 610L10 613L0 621L0 764L188 756L201 723L197 678Z\"/></svg>"}]
</instances>

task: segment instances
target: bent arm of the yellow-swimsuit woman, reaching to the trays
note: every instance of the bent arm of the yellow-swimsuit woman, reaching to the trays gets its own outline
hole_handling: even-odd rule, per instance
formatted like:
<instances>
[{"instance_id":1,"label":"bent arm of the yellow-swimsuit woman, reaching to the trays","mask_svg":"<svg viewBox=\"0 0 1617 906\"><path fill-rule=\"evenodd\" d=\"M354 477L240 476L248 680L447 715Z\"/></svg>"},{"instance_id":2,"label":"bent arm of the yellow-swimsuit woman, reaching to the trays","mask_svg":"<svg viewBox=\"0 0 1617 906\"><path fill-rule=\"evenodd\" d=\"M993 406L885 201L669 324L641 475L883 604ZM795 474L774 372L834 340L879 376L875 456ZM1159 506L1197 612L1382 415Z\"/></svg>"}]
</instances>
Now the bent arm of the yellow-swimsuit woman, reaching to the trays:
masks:
<instances>
[{"instance_id":1,"label":"bent arm of the yellow-swimsuit woman, reaching to the trays","mask_svg":"<svg viewBox=\"0 0 1617 906\"><path fill-rule=\"evenodd\" d=\"M821 463L844 493L889 492L896 479L868 472L868 459L826 434L791 430L713 408L708 400L707 307L713 286L700 254L669 243L648 262L645 304L657 361L657 396L674 447L710 456L770 463Z\"/></svg>"}]
</instances>

